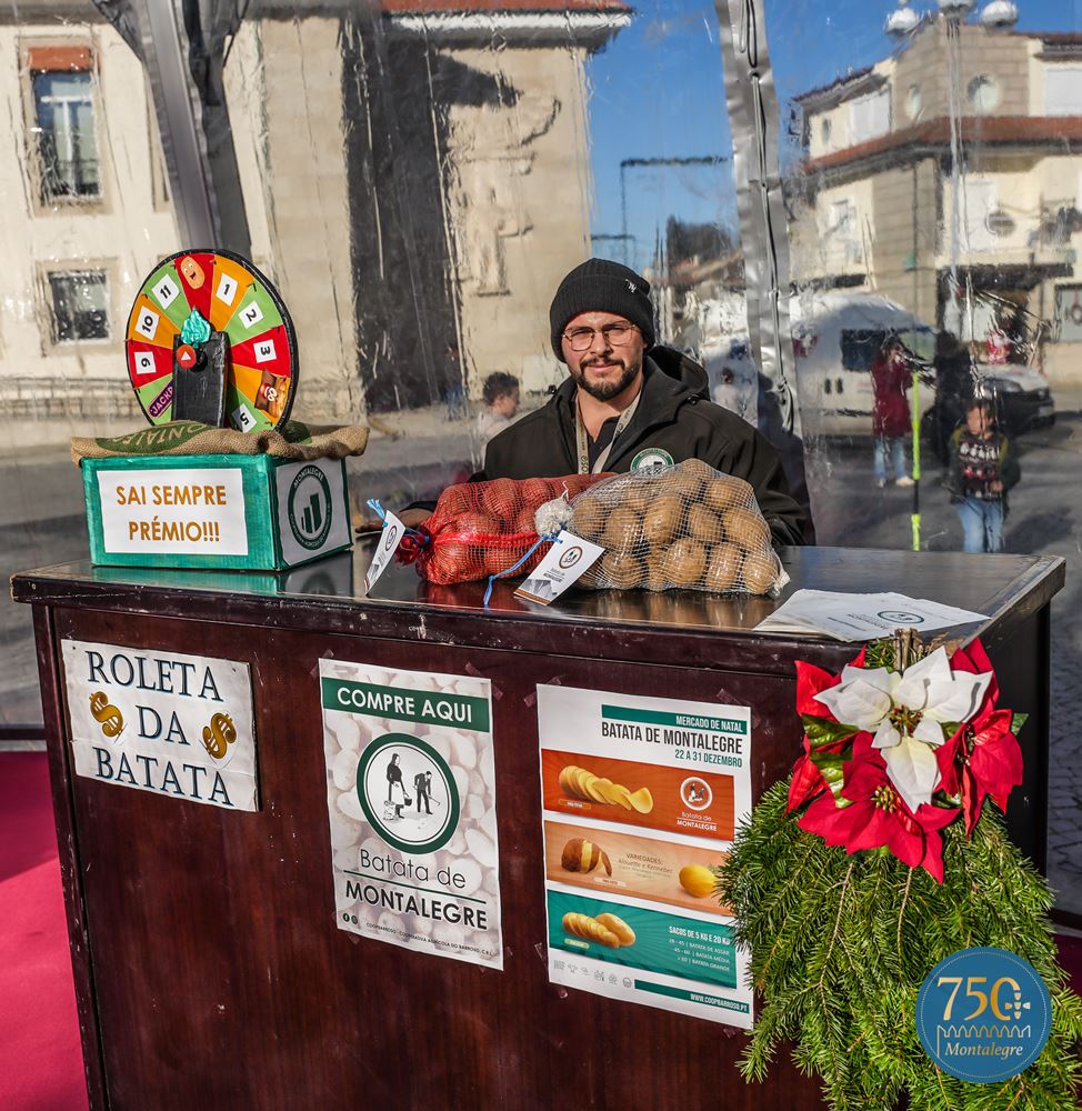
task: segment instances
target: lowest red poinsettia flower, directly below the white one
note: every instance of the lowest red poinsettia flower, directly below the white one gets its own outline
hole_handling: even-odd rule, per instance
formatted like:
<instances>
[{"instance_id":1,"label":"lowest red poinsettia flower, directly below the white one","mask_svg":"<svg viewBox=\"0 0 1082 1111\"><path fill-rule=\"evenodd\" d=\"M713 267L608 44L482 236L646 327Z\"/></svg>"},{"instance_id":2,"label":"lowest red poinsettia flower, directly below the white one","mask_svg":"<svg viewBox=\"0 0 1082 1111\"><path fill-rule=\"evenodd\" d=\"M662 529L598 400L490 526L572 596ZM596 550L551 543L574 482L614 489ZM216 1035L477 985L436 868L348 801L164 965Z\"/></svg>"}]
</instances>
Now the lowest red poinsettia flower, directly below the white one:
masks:
<instances>
[{"instance_id":1,"label":"lowest red poinsettia flower, directly below the white one","mask_svg":"<svg viewBox=\"0 0 1082 1111\"><path fill-rule=\"evenodd\" d=\"M798 820L801 829L844 847L849 853L886 848L903 864L923 868L943 882L943 842L939 830L961 813L958 809L920 805L911 810L888 774L886 762L863 740L854 745L854 759L845 764L842 795L851 803L841 808L826 792Z\"/></svg>"}]
</instances>

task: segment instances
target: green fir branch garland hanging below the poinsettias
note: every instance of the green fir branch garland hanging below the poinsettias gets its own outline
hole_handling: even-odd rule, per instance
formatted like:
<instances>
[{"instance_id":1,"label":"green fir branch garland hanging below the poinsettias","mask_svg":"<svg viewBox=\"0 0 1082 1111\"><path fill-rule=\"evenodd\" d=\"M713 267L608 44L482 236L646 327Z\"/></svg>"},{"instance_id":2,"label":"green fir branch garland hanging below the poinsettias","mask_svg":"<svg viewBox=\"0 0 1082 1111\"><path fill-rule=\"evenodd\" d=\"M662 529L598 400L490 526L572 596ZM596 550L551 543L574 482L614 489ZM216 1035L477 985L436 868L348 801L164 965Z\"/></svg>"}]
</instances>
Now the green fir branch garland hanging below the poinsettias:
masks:
<instances>
[{"instance_id":1,"label":"green fir branch garland hanging below the poinsettias","mask_svg":"<svg viewBox=\"0 0 1082 1111\"><path fill-rule=\"evenodd\" d=\"M751 950L763 1002L741 1071L762 1080L779 1043L822 1079L835 1111L1066 1111L1079 1105L1082 1000L1059 967L1045 880L985 805L965 840L943 830L945 879L910 869L885 849L848 854L787 813L775 784L719 870L719 894ZM916 995L943 958L995 945L1025 958L1052 997L1052 1033L1024 1072L966 1083L940 1070L916 1034Z\"/></svg>"}]
</instances>

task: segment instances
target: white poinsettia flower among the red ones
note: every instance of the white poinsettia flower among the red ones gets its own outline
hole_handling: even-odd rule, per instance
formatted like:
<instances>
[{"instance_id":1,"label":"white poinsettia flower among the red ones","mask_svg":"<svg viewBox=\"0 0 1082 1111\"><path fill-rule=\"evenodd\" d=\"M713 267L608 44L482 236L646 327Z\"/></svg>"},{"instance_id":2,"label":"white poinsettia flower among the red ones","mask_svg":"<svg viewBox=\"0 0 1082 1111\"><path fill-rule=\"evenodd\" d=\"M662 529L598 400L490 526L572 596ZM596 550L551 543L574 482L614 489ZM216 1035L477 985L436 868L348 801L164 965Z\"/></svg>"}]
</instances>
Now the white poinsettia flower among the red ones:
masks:
<instances>
[{"instance_id":1,"label":"white poinsettia flower among the red ones","mask_svg":"<svg viewBox=\"0 0 1082 1111\"><path fill-rule=\"evenodd\" d=\"M886 773L910 810L932 801L939 785L934 749L943 723L969 721L981 707L990 673L951 671L938 648L904 671L846 667L842 681L815 695L846 725L873 733Z\"/></svg>"}]
</instances>

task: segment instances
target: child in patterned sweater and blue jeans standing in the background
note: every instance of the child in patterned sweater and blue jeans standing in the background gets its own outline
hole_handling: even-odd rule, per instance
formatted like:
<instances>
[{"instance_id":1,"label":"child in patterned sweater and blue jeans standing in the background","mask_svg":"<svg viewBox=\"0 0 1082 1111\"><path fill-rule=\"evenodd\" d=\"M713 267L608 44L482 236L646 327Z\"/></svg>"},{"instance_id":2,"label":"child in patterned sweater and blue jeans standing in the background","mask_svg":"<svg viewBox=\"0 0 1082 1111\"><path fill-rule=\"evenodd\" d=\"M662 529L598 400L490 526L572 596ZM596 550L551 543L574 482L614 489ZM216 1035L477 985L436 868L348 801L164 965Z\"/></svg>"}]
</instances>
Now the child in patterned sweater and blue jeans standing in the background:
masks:
<instances>
[{"instance_id":1,"label":"child in patterned sweater and blue jeans standing in the background","mask_svg":"<svg viewBox=\"0 0 1082 1111\"><path fill-rule=\"evenodd\" d=\"M963 550L1003 550L1006 492L1021 478L1014 447L995 427L989 398L971 401L949 442L945 486L962 522Z\"/></svg>"}]
</instances>

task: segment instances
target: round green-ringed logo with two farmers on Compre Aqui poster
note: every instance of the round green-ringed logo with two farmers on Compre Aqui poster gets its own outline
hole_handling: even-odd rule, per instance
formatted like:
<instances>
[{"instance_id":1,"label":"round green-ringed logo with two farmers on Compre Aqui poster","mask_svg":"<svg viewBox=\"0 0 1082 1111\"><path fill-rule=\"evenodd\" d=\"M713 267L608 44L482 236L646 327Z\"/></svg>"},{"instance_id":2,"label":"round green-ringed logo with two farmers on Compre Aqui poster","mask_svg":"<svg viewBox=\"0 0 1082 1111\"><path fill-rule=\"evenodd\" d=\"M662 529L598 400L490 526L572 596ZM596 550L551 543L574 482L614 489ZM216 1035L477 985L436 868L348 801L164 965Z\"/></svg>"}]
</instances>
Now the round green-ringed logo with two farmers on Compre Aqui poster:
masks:
<instances>
[{"instance_id":1,"label":"round green-ringed logo with two farmers on Compre Aqui poster","mask_svg":"<svg viewBox=\"0 0 1082 1111\"><path fill-rule=\"evenodd\" d=\"M409 733L384 733L369 744L357 765L357 797L375 832L400 852L435 852L459 824L451 769Z\"/></svg>"}]
</instances>

